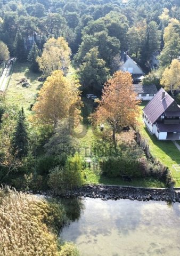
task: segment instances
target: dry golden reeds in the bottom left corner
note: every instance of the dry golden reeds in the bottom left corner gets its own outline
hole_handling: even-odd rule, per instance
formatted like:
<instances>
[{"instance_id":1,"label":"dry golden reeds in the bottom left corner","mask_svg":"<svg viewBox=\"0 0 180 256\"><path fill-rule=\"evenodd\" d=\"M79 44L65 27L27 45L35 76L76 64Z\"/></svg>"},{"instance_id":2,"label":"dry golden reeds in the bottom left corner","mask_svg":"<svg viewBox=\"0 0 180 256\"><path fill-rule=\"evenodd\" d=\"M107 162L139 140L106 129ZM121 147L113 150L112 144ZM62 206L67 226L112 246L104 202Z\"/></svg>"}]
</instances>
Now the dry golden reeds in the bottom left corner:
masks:
<instances>
[{"instance_id":1,"label":"dry golden reeds in the bottom left corner","mask_svg":"<svg viewBox=\"0 0 180 256\"><path fill-rule=\"evenodd\" d=\"M44 223L46 214L44 199L0 189L0 255L59 255L56 236Z\"/></svg>"}]
</instances>

